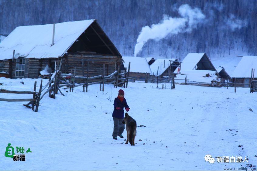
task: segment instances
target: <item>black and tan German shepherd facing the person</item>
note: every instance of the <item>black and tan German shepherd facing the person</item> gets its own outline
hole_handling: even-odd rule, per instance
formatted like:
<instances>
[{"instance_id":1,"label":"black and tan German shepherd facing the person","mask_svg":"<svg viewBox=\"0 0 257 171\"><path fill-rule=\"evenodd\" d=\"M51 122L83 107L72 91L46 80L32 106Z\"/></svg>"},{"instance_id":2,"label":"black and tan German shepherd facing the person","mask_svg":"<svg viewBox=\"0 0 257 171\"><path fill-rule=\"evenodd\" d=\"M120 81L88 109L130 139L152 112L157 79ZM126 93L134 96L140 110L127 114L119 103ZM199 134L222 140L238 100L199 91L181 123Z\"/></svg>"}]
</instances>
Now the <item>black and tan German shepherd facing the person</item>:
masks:
<instances>
[{"instance_id":1,"label":"black and tan German shepherd facing the person","mask_svg":"<svg viewBox=\"0 0 257 171\"><path fill-rule=\"evenodd\" d=\"M125 144L130 143L130 145L135 146L135 136L136 136L136 121L128 113L125 113L125 118L122 121L126 125L127 130L127 141Z\"/></svg>"}]
</instances>

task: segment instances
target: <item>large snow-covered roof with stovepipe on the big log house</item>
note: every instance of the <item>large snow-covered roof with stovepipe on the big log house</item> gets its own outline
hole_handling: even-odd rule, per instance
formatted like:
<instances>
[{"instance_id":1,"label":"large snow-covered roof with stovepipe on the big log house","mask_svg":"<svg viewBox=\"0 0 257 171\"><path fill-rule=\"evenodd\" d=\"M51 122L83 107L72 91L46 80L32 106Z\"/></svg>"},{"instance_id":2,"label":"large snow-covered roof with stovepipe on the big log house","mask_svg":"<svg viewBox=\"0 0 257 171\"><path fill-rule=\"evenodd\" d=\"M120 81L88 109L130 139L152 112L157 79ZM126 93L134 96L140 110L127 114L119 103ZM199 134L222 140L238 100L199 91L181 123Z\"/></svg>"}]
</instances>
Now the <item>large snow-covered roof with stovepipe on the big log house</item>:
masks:
<instances>
[{"instance_id":1,"label":"large snow-covered roof with stovepipe on the big log house","mask_svg":"<svg viewBox=\"0 0 257 171\"><path fill-rule=\"evenodd\" d=\"M53 24L16 27L0 43L0 60L12 59L13 50L16 58L58 58L93 22L83 20L55 24L53 46Z\"/></svg>"}]
</instances>

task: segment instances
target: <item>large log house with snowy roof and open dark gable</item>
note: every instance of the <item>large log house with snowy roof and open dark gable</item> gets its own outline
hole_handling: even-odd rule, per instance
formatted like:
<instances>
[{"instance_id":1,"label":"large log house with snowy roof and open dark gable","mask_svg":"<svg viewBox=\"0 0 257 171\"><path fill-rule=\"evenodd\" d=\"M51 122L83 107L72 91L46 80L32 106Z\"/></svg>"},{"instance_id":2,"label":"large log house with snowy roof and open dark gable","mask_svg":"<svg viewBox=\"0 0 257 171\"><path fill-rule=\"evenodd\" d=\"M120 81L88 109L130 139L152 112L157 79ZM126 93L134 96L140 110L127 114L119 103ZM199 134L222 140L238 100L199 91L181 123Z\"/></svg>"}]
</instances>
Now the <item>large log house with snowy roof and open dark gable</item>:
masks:
<instances>
[{"instance_id":1,"label":"large log house with snowy roof and open dark gable","mask_svg":"<svg viewBox=\"0 0 257 171\"><path fill-rule=\"evenodd\" d=\"M86 76L89 62L89 76L101 75L103 64L108 75L122 56L96 20L20 26L0 43L0 73L9 78L38 78L60 62L62 73Z\"/></svg>"}]
</instances>

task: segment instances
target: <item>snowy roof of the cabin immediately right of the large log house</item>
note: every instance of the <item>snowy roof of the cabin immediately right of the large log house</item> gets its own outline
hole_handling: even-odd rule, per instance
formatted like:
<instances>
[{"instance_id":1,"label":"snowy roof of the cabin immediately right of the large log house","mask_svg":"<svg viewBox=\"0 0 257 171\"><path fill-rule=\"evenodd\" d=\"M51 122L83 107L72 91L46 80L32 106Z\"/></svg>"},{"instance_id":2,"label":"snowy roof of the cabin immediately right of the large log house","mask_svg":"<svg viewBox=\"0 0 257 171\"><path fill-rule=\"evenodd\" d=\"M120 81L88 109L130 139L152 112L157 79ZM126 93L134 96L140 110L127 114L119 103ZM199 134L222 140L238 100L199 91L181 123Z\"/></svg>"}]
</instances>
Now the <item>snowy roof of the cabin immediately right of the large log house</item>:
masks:
<instances>
[{"instance_id":1,"label":"snowy roof of the cabin immediately right of the large log house","mask_svg":"<svg viewBox=\"0 0 257 171\"><path fill-rule=\"evenodd\" d=\"M125 61L123 65L127 69L129 69L130 62L129 72L152 73L146 58L122 56L122 59Z\"/></svg>"}]
</instances>

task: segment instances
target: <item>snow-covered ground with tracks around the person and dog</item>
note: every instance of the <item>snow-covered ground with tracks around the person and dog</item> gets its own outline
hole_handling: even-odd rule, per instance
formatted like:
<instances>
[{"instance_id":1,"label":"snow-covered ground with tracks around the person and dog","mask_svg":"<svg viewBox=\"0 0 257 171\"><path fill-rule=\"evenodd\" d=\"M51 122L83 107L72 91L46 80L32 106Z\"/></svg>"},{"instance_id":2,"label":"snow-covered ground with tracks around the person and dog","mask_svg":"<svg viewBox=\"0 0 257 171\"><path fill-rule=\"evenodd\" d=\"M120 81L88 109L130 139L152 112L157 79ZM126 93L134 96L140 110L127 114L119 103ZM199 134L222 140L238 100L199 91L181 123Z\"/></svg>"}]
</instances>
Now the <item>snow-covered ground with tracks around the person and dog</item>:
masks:
<instances>
[{"instance_id":1,"label":"snow-covered ground with tracks around the person and dog","mask_svg":"<svg viewBox=\"0 0 257 171\"><path fill-rule=\"evenodd\" d=\"M40 79L0 78L0 88L33 90L35 80L38 90ZM257 93L249 88L234 93L233 88L176 85L171 90L135 82L124 91L129 115L146 126L137 127L135 146L124 144L126 132L124 139L112 139L118 94L113 85L105 85L105 92L97 84L87 93L77 87L63 90L65 97L45 96L39 112L24 107L25 102L1 101L0 170L223 170L248 164L217 163L217 156L246 156L257 165ZM31 98L0 93L0 98L25 96ZM8 143L32 153L14 162L4 156ZM213 164L205 162L207 154Z\"/></svg>"}]
</instances>

